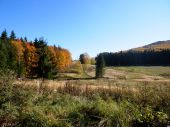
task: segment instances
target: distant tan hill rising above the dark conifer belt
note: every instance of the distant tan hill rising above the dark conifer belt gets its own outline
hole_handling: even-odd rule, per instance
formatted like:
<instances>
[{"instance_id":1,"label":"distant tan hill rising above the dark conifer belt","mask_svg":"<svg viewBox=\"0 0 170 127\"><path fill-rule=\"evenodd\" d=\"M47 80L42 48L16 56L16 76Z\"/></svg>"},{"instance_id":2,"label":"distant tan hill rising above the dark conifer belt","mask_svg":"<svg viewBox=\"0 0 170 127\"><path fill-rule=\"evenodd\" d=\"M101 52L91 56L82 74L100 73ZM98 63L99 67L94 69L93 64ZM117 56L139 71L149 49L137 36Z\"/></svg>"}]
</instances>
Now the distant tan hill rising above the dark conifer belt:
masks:
<instances>
[{"instance_id":1,"label":"distant tan hill rising above the dark conifer belt","mask_svg":"<svg viewBox=\"0 0 170 127\"><path fill-rule=\"evenodd\" d=\"M144 51L144 50L161 51L163 49L170 49L170 40L154 42L154 43L142 46L142 47L133 48L131 50L134 50L134 51Z\"/></svg>"}]
</instances>

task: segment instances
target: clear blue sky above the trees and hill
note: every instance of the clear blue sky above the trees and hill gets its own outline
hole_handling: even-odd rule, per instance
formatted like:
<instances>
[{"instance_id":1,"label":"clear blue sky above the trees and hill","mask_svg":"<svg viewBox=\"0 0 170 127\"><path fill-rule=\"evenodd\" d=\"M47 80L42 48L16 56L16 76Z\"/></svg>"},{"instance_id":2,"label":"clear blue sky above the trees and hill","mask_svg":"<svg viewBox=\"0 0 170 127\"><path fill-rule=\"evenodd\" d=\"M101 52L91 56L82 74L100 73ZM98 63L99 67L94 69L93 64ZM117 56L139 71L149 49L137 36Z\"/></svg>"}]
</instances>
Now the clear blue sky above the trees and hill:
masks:
<instances>
[{"instance_id":1,"label":"clear blue sky above the trees and hill","mask_svg":"<svg viewBox=\"0 0 170 127\"><path fill-rule=\"evenodd\" d=\"M170 40L170 0L0 0L4 29L95 57Z\"/></svg>"}]
</instances>

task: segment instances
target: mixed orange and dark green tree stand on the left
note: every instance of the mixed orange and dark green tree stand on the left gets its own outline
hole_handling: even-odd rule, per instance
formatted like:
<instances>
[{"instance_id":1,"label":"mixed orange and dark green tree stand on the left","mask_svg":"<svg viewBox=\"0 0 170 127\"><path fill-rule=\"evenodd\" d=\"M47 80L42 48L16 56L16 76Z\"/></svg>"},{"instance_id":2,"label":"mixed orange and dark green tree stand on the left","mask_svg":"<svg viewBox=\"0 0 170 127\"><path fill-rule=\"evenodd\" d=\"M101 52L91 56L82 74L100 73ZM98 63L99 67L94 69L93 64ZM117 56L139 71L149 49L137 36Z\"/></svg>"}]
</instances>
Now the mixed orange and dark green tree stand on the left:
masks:
<instances>
[{"instance_id":1,"label":"mixed orange and dark green tree stand on the left","mask_svg":"<svg viewBox=\"0 0 170 127\"><path fill-rule=\"evenodd\" d=\"M8 37L6 30L0 36L0 69L10 69L18 77L55 78L72 62L71 53L64 48L48 46L43 38L28 42L16 38L14 31Z\"/></svg>"}]
</instances>

